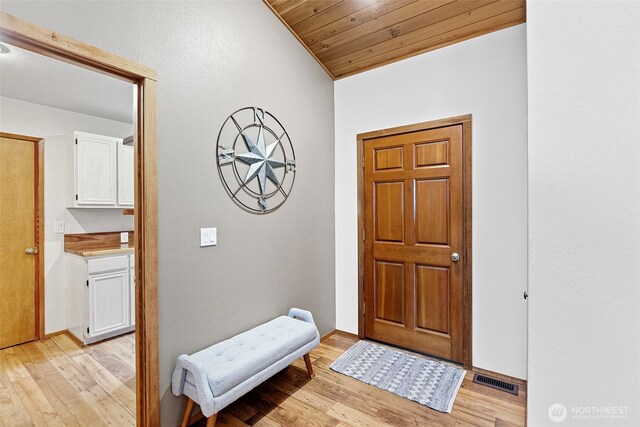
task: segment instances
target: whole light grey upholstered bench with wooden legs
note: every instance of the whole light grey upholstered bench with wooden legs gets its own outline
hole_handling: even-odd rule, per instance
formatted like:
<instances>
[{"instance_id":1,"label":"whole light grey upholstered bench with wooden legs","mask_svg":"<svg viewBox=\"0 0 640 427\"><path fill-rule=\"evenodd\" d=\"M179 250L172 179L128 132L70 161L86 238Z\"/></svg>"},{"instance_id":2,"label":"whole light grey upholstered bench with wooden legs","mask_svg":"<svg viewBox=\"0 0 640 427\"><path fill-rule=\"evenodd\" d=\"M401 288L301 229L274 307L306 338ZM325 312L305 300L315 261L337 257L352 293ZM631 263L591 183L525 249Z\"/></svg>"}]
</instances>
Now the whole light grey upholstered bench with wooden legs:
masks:
<instances>
[{"instance_id":1,"label":"whole light grey upholstered bench with wooden legs","mask_svg":"<svg viewBox=\"0 0 640 427\"><path fill-rule=\"evenodd\" d=\"M207 417L207 427L215 426L221 409L299 357L304 357L313 378L309 351L319 343L320 334L311 313L292 308L288 316L277 317L192 355L181 355L171 388L176 396L184 394L188 398L182 426L188 425L196 403Z\"/></svg>"}]
</instances>

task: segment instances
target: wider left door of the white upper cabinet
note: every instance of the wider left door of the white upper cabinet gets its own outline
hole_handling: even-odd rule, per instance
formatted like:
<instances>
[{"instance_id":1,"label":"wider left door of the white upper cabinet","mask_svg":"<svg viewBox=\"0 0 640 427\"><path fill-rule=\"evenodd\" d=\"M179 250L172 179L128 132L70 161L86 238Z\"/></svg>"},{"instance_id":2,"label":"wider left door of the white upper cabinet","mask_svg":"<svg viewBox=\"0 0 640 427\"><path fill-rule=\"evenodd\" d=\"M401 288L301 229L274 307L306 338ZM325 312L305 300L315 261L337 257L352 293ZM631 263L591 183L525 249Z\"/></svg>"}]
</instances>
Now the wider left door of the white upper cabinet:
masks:
<instances>
[{"instance_id":1,"label":"wider left door of the white upper cabinet","mask_svg":"<svg viewBox=\"0 0 640 427\"><path fill-rule=\"evenodd\" d=\"M118 139L76 134L77 206L116 206Z\"/></svg>"}]
</instances>

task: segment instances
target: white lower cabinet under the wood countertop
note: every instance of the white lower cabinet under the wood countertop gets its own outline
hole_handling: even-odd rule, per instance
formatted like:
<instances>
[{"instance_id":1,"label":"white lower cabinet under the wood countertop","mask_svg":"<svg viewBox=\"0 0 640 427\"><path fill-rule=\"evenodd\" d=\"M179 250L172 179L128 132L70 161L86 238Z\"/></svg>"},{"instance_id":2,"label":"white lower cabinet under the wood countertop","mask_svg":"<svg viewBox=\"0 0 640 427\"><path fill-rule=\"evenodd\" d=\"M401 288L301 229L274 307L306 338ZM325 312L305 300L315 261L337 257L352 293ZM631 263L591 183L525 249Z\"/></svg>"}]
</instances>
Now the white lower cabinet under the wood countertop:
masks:
<instances>
[{"instance_id":1,"label":"white lower cabinet under the wood countertop","mask_svg":"<svg viewBox=\"0 0 640 427\"><path fill-rule=\"evenodd\" d=\"M67 254L68 329L83 344L134 330L132 260Z\"/></svg>"}]
</instances>

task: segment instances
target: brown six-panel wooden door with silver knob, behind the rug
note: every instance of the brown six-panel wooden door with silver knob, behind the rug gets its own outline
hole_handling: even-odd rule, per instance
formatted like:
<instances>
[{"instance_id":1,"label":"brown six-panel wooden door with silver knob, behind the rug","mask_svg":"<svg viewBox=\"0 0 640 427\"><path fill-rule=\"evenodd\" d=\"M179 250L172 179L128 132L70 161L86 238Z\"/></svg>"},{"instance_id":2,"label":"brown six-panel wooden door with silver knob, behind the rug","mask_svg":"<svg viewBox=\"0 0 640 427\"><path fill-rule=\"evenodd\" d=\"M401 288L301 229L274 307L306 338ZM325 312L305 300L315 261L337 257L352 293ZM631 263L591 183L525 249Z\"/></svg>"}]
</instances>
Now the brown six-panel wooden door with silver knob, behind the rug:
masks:
<instances>
[{"instance_id":1,"label":"brown six-panel wooden door with silver knob, behind the rug","mask_svg":"<svg viewBox=\"0 0 640 427\"><path fill-rule=\"evenodd\" d=\"M365 336L462 363L462 125L363 147Z\"/></svg>"}]
</instances>

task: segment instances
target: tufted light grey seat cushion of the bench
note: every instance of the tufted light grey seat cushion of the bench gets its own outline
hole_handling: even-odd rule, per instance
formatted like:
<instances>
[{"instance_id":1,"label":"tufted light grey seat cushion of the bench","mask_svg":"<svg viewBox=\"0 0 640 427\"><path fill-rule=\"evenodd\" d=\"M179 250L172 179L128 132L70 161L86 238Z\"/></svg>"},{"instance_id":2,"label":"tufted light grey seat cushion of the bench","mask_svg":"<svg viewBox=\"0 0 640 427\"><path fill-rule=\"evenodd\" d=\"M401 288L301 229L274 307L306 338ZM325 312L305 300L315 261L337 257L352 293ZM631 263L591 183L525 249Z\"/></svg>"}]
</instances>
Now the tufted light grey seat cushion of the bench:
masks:
<instances>
[{"instance_id":1,"label":"tufted light grey seat cushion of the bench","mask_svg":"<svg viewBox=\"0 0 640 427\"><path fill-rule=\"evenodd\" d=\"M314 325L288 316L277 317L189 356L206 372L211 393L220 396L303 345L314 340ZM187 382L195 384L191 372Z\"/></svg>"}]
</instances>

